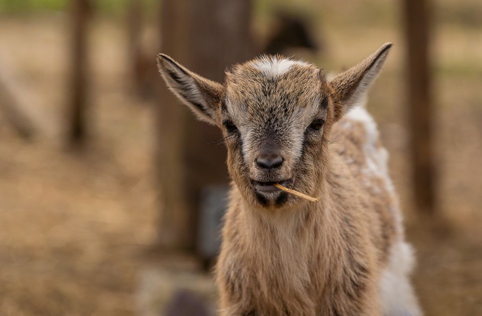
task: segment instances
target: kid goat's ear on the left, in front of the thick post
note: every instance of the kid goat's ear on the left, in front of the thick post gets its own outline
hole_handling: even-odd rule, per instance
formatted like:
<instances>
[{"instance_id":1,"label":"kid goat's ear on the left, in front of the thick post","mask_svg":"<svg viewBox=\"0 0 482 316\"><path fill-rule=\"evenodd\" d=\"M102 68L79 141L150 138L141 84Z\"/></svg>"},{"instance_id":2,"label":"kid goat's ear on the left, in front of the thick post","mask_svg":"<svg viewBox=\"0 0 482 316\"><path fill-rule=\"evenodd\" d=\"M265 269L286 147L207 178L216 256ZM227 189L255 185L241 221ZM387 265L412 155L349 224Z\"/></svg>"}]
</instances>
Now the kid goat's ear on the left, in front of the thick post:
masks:
<instances>
[{"instance_id":1,"label":"kid goat's ear on the left, in front of the thick post","mask_svg":"<svg viewBox=\"0 0 482 316\"><path fill-rule=\"evenodd\" d=\"M218 108L224 94L222 84L203 78L165 54L157 66L169 89L203 121L218 123Z\"/></svg>"}]
</instances>

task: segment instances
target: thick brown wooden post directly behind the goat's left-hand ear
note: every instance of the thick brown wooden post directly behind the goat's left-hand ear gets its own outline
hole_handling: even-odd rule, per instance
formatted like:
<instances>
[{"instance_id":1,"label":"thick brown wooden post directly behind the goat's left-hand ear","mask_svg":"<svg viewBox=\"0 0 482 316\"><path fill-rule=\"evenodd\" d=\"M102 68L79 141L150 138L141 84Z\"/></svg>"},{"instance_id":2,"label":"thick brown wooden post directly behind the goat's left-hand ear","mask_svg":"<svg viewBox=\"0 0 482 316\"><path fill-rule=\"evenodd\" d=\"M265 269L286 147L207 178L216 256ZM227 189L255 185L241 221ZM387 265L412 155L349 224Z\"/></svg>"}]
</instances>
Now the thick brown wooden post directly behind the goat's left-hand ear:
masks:
<instances>
[{"instance_id":1,"label":"thick brown wooden post directly behind the goat's left-hand ear","mask_svg":"<svg viewBox=\"0 0 482 316\"><path fill-rule=\"evenodd\" d=\"M161 51L212 80L252 54L251 1L164 0ZM160 242L193 250L202 188L228 185L226 153L217 127L199 122L159 85Z\"/></svg>"}]
</instances>

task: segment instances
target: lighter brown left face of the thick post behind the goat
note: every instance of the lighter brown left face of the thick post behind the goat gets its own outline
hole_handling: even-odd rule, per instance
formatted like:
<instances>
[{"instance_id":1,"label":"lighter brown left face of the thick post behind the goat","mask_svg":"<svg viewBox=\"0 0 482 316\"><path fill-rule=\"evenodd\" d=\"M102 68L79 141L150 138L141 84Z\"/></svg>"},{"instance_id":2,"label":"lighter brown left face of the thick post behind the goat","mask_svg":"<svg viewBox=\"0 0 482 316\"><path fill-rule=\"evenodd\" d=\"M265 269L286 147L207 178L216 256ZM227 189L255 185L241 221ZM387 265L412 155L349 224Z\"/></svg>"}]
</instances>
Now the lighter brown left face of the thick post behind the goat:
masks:
<instances>
[{"instance_id":1,"label":"lighter brown left face of the thick post behind the goat","mask_svg":"<svg viewBox=\"0 0 482 316\"><path fill-rule=\"evenodd\" d=\"M190 23L188 4L186 1L163 0L160 10L160 51L186 63ZM167 90L160 76L156 78L159 99L156 168L161 189L159 240L165 248L185 249L191 246L194 238L186 197L189 166L184 164L184 134L189 113Z\"/></svg>"}]
</instances>

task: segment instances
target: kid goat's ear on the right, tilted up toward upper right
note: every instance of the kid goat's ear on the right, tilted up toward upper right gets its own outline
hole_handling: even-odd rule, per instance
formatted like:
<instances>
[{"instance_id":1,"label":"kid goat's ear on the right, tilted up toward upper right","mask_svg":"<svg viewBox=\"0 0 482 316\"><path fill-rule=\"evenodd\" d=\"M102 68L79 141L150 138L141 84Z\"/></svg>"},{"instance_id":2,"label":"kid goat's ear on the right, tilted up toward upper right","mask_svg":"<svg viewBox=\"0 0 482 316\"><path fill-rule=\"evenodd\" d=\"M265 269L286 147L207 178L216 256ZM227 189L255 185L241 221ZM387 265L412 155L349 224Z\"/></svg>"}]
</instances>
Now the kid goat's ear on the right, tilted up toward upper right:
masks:
<instances>
[{"instance_id":1,"label":"kid goat's ear on the right, tilted up toward upper right","mask_svg":"<svg viewBox=\"0 0 482 316\"><path fill-rule=\"evenodd\" d=\"M337 111L338 116L364 100L370 84L380 73L391 47L392 43L384 44L364 61L343 71L329 82L333 89L332 97L341 107Z\"/></svg>"}]
</instances>

